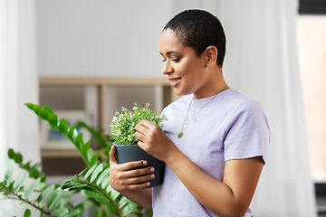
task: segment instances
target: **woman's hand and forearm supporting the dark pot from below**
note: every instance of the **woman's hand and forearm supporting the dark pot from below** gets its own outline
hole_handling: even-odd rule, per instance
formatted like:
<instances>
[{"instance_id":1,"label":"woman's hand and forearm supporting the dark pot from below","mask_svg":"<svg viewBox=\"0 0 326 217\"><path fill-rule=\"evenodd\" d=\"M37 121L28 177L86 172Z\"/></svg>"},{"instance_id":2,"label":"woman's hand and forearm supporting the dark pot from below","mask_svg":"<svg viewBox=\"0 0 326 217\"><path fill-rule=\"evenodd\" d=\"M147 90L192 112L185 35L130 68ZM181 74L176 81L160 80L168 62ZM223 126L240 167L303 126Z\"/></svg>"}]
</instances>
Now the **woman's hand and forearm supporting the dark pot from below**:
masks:
<instances>
[{"instance_id":1,"label":"woman's hand and forearm supporting the dark pot from below","mask_svg":"<svg viewBox=\"0 0 326 217\"><path fill-rule=\"evenodd\" d=\"M116 148L112 146L110 150L110 185L133 203L151 210L151 189L144 188L149 186L147 181L154 178L152 174L154 168L133 169L147 165L146 161L134 161L119 165L115 155Z\"/></svg>"}]
</instances>

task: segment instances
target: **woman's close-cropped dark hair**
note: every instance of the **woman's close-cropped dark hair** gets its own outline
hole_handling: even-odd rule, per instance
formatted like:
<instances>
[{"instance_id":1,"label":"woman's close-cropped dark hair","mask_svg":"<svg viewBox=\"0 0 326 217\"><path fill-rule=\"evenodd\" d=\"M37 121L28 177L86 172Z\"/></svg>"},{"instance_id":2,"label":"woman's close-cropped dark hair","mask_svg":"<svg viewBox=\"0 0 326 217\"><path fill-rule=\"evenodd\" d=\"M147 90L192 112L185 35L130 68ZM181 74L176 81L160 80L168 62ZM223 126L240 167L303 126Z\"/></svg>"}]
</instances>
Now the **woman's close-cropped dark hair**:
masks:
<instances>
[{"instance_id":1,"label":"woman's close-cropped dark hair","mask_svg":"<svg viewBox=\"0 0 326 217\"><path fill-rule=\"evenodd\" d=\"M217 17L209 12L192 9L173 17L163 28L171 29L184 46L192 47L197 56L213 45L217 49L217 65L223 65L225 58L225 32Z\"/></svg>"}]
</instances>

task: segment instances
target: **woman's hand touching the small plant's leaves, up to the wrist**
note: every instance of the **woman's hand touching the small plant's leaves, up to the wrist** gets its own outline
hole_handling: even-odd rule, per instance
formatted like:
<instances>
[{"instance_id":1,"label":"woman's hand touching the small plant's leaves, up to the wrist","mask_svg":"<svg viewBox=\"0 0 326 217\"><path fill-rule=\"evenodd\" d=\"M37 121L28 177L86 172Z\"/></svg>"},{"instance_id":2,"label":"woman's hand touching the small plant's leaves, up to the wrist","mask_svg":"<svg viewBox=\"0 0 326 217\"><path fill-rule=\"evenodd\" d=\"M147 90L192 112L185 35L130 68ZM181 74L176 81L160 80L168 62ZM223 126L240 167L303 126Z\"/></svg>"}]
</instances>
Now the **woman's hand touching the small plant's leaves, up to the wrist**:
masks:
<instances>
[{"instance_id":1,"label":"woman's hand touching the small plant's leaves, up to the wrist","mask_svg":"<svg viewBox=\"0 0 326 217\"><path fill-rule=\"evenodd\" d=\"M139 147L161 161L166 161L168 153L177 148L163 130L147 119L141 120L135 129Z\"/></svg>"}]
</instances>

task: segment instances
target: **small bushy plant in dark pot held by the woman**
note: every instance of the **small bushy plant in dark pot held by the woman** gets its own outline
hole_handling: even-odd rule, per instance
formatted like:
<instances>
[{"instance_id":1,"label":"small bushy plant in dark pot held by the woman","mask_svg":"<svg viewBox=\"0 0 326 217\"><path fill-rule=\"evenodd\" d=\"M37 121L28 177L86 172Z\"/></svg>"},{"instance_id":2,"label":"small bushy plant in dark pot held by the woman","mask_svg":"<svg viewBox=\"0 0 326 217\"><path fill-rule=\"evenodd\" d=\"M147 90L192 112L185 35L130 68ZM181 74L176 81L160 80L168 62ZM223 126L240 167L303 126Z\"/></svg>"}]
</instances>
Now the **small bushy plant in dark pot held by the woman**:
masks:
<instances>
[{"instance_id":1,"label":"small bushy plant in dark pot held by the woman","mask_svg":"<svg viewBox=\"0 0 326 217\"><path fill-rule=\"evenodd\" d=\"M149 103L145 108L140 108L138 103L134 103L132 111L121 108L121 112L116 112L113 116L110 127L110 138L114 141L113 145L116 146L117 160L119 164L146 160L148 165L155 168L155 178L150 180L149 187L154 187L163 182L164 176L164 162L158 160L154 156L150 156L149 153L141 149L138 144L138 139L134 137L136 132L136 125L143 119L147 119L160 128L163 128L163 121L167 120L164 115L158 117L157 113L149 109Z\"/></svg>"}]
</instances>

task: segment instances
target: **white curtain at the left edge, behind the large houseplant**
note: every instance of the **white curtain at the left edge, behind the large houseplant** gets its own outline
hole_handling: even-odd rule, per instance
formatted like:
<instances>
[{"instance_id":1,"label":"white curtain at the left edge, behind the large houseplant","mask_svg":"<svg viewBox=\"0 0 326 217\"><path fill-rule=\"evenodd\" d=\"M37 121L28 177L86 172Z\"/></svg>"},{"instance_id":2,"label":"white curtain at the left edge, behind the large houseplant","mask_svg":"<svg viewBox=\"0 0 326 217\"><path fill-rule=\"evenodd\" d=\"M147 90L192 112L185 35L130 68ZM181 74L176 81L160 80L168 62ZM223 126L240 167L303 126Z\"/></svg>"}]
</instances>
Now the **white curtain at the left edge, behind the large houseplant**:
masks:
<instances>
[{"instance_id":1,"label":"white curtain at the left edge, behind the large houseplant","mask_svg":"<svg viewBox=\"0 0 326 217\"><path fill-rule=\"evenodd\" d=\"M0 180L14 165L8 148L20 152L24 163L41 161L38 118L24 105L38 103L34 24L34 0L0 0ZM16 166L14 171L13 178L22 172ZM0 200L0 216L23 216L26 207Z\"/></svg>"}]
</instances>

